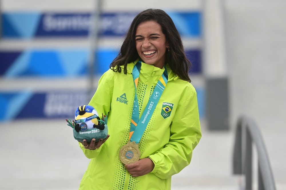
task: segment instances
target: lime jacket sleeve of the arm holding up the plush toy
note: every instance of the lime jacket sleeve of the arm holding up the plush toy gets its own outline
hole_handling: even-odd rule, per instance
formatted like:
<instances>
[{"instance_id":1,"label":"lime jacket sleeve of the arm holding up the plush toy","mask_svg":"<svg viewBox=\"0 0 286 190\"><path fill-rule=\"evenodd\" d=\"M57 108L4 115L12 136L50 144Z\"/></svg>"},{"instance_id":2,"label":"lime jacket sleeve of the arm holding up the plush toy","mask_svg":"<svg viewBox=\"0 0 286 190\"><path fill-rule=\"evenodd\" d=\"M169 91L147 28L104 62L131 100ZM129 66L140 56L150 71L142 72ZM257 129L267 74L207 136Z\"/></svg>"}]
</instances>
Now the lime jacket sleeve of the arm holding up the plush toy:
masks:
<instances>
[{"instance_id":1,"label":"lime jacket sleeve of the arm holding up the plush toy","mask_svg":"<svg viewBox=\"0 0 286 190\"><path fill-rule=\"evenodd\" d=\"M112 89L114 82L113 82L113 75L108 72L109 71L105 72L101 76L98 82L98 88L96 89L96 92L89 103L89 105L93 106L96 109L100 117L102 114L106 116L108 115L112 100L112 92L113 92ZM82 143L79 143L79 145L82 151L84 152L84 155L86 155L86 157L89 159L98 156L101 148L104 146L104 144L102 144L99 149L89 150L84 148Z\"/></svg>"}]
</instances>

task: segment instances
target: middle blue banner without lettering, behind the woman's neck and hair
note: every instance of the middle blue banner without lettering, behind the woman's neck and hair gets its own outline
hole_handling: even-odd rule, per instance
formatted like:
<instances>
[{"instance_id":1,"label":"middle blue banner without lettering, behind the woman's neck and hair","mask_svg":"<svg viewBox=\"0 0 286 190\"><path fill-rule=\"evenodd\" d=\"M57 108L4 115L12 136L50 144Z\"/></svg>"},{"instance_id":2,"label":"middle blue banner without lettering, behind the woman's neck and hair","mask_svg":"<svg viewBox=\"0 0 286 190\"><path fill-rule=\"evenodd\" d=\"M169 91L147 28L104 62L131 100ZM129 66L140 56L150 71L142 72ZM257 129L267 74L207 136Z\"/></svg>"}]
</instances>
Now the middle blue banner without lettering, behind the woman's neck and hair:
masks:
<instances>
[{"instance_id":1,"label":"middle blue banner without lettering, behind the woman's neck and hair","mask_svg":"<svg viewBox=\"0 0 286 190\"><path fill-rule=\"evenodd\" d=\"M99 49L94 74L102 75L117 56L116 50ZM190 73L201 73L200 50L187 50L192 62ZM88 74L87 49L0 51L0 76L5 78L75 77Z\"/></svg>"}]
</instances>

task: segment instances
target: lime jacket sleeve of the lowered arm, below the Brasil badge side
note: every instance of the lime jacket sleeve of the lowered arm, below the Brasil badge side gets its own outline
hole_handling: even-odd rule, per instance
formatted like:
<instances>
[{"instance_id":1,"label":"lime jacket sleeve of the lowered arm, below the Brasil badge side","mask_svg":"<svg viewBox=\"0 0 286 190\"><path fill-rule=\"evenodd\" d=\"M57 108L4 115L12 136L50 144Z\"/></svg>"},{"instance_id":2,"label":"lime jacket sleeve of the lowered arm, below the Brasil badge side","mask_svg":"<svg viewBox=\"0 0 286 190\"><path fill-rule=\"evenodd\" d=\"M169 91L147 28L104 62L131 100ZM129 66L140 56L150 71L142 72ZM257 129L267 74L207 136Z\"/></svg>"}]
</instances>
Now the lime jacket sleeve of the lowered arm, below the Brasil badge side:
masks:
<instances>
[{"instance_id":1,"label":"lime jacket sleeve of the lowered arm, below the Brasil badge side","mask_svg":"<svg viewBox=\"0 0 286 190\"><path fill-rule=\"evenodd\" d=\"M179 173L190 164L192 151L201 138L196 92L179 102L170 128L170 139L163 149L150 155L152 171L161 179Z\"/></svg>"}]
</instances>

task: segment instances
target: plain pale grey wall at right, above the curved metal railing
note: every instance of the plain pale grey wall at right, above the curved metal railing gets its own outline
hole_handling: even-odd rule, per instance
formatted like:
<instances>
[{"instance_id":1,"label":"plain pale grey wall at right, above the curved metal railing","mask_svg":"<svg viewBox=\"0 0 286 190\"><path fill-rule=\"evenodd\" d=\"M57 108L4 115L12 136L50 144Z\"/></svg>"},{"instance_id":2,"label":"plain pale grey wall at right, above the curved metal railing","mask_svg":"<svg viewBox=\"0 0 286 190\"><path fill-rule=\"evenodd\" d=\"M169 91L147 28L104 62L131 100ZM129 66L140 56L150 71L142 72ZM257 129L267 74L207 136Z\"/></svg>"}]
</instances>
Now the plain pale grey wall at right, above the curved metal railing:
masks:
<instances>
[{"instance_id":1,"label":"plain pale grey wall at right, above the curved metal railing","mask_svg":"<svg viewBox=\"0 0 286 190\"><path fill-rule=\"evenodd\" d=\"M225 1L231 121L286 126L286 1Z\"/></svg>"}]
</instances>

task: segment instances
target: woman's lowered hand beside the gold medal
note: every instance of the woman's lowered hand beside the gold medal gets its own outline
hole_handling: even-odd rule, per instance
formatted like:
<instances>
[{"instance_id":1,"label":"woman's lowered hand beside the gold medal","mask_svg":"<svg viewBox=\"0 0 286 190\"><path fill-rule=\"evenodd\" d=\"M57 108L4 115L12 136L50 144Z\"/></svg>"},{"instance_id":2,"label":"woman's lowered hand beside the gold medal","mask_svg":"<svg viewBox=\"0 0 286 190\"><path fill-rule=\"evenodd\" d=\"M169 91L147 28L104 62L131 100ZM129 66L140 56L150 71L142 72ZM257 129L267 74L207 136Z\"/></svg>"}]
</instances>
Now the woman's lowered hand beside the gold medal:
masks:
<instances>
[{"instance_id":1,"label":"woman's lowered hand beside the gold medal","mask_svg":"<svg viewBox=\"0 0 286 190\"><path fill-rule=\"evenodd\" d=\"M150 173L155 165L150 158L143 158L132 164L126 164L125 168L133 177L138 177Z\"/></svg>"}]
</instances>

